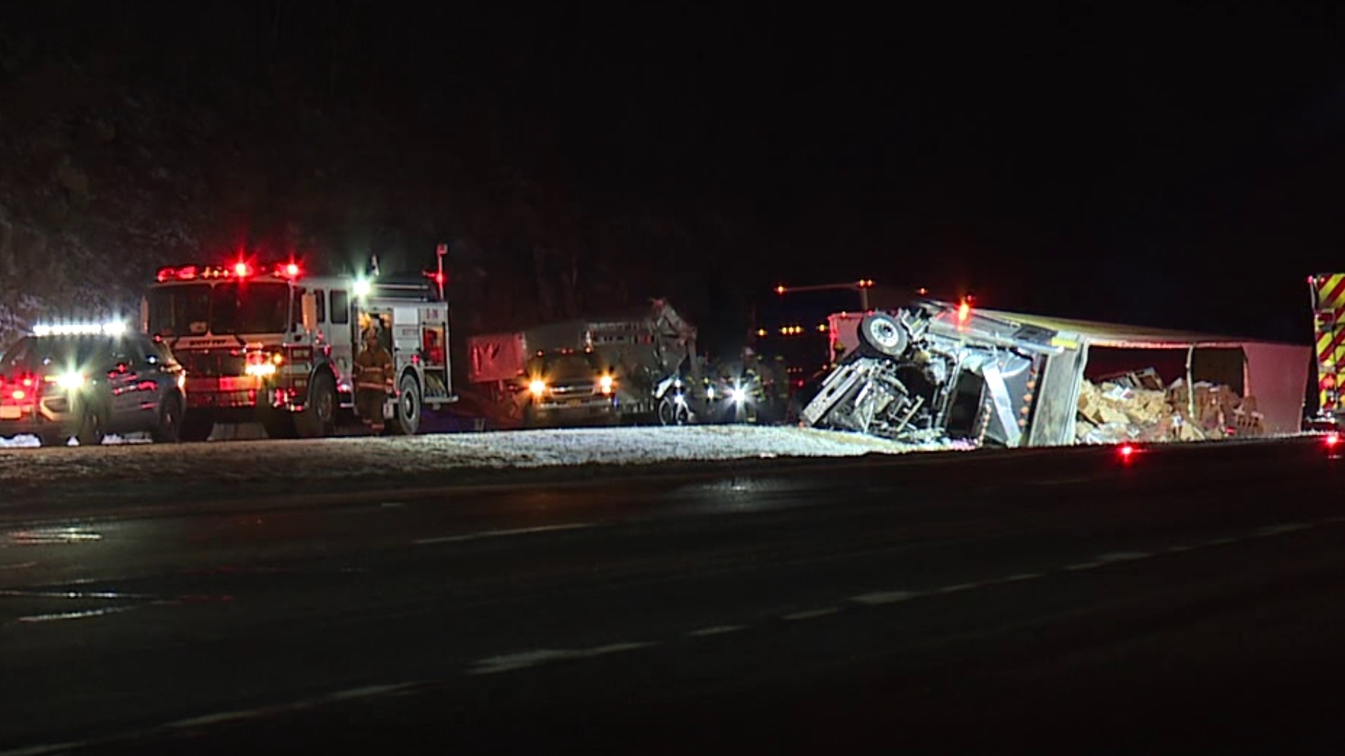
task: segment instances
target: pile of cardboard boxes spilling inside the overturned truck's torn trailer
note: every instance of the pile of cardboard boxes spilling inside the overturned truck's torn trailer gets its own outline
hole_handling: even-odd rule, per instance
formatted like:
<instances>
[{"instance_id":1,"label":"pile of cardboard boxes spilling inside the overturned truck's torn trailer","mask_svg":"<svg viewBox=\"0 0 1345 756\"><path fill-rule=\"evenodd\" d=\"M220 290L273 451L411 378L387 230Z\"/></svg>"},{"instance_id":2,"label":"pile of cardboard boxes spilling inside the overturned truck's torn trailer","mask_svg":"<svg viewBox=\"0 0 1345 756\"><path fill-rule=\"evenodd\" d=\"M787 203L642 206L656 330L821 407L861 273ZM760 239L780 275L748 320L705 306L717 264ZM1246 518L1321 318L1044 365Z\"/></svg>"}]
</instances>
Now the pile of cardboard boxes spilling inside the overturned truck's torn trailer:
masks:
<instances>
[{"instance_id":1,"label":"pile of cardboard boxes spilling inside the overturned truck's torn trailer","mask_svg":"<svg viewBox=\"0 0 1345 756\"><path fill-rule=\"evenodd\" d=\"M1115 381L1084 381L1079 391L1075 439L1084 444L1120 441L1204 441L1260 436L1263 417L1255 397L1240 397L1229 386L1197 382L1188 391L1177 379L1166 389L1153 370Z\"/></svg>"}]
</instances>

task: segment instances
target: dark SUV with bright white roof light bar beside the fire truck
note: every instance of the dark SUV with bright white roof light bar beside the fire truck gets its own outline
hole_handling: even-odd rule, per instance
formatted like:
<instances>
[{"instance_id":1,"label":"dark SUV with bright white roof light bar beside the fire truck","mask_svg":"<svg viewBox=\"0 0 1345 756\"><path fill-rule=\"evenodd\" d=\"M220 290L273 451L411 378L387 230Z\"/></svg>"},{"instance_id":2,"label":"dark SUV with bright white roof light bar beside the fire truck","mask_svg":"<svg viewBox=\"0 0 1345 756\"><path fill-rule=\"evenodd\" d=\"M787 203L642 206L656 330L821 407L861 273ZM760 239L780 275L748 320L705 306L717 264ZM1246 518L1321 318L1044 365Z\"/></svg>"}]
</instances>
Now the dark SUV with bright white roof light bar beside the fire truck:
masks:
<instances>
[{"instance_id":1,"label":"dark SUV with bright white roof light bar beside the fire truck","mask_svg":"<svg viewBox=\"0 0 1345 756\"><path fill-rule=\"evenodd\" d=\"M184 374L168 344L139 334L24 336L0 358L0 437L43 445L149 432L176 441Z\"/></svg>"}]
</instances>

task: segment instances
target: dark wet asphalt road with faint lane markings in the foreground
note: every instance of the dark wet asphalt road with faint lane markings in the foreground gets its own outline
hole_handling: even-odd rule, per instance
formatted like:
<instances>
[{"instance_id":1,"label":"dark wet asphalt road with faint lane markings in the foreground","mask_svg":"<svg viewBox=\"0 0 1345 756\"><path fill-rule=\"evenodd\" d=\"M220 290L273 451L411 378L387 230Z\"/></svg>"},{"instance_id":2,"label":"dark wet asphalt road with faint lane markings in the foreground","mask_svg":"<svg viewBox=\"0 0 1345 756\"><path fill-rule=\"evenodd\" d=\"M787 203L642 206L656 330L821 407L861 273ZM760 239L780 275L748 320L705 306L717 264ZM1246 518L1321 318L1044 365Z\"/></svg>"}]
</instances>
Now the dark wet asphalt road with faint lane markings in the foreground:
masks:
<instances>
[{"instance_id":1,"label":"dark wet asphalt road with faint lane markings in the foreground","mask_svg":"<svg viewBox=\"0 0 1345 756\"><path fill-rule=\"evenodd\" d=\"M1342 464L939 455L11 521L0 751L1337 753Z\"/></svg>"}]
</instances>

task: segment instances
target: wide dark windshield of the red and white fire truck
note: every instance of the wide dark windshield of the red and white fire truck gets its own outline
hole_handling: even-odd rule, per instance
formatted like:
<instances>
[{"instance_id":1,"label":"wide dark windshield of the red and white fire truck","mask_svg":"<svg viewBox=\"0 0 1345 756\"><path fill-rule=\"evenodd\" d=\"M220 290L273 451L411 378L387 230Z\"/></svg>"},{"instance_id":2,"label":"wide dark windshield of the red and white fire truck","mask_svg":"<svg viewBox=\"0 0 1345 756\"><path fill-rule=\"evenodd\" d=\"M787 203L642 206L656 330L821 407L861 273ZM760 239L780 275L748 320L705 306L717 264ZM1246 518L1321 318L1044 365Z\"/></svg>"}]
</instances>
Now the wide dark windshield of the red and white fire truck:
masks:
<instances>
[{"instance_id":1,"label":"wide dark windshield of the red and white fire truck","mask_svg":"<svg viewBox=\"0 0 1345 756\"><path fill-rule=\"evenodd\" d=\"M288 284L221 281L161 287L149 292L151 334L274 334L288 327Z\"/></svg>"}]
</instances>

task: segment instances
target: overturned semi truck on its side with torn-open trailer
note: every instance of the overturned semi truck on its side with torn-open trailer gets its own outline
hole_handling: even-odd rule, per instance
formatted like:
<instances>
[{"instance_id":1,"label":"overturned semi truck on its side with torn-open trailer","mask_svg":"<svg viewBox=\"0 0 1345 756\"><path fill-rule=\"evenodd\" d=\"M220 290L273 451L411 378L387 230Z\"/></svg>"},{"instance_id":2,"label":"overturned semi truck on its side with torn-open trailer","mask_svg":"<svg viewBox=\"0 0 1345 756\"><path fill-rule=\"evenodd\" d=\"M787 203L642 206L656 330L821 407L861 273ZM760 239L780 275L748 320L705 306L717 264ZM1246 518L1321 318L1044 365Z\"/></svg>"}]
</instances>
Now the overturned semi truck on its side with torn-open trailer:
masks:
<instances>
[{"instance_id":1,"label":"overturned semi truck on its side with torn-open trailer","mask_svg":"<svg viewBox=\"0 0 1345 756\"><path fill-rule=\"evenodd\" d=\"M1118 408L1128 409L1120 400L1135 394L1142 400L1135 406L1162 430L1119 422L1103 429L1111 433L1106 440L1208 439L1239 429L1295 433L1303 417L1306 346L972 311L936 300L833 315L829 328L834 351L845 356L804 406L802 421L810 426L907 443L1067 445L1106 436L1091 432L1098 430L1091 417L1080 416L1081 395L1084 404L1106 400L1098 404L1108 405L1111 418ZM1149 370L1155 366L1161 369ZM1162 373L1170 383L1153 385ZM1240 401L1229 401L1233 393ZM1210 401L1221 404L1206 412ZM1239 416L1235 425L1237 413L1255 413L1255 422ZM1202 429L1194 432L1197 424Z\"/></svg>"}]
</instances>

